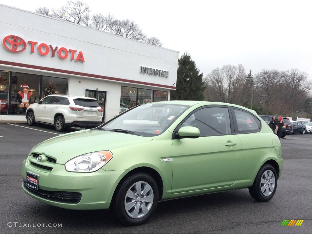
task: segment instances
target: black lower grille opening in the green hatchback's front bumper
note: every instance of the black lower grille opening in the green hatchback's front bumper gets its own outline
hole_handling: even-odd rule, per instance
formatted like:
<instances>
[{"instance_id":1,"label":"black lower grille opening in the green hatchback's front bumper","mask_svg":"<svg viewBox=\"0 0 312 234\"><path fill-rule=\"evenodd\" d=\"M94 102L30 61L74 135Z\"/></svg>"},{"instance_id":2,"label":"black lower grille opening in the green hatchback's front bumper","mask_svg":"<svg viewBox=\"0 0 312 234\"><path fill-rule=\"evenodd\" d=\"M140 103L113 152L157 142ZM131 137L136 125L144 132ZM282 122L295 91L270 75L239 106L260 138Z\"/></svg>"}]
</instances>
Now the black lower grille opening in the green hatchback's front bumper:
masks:
<instances>
[{"instance_id":1,"label":"black lower grille opening in the green hatchback's front bumper","mask_svg":"<svg viewBox=\"0 0 312 234\"><path fill-rule=\"evenodd\" d=\"M81 199L81 193L65 192L65 191L51 192L51 191L46 191L43 189L35 190L35 189L27 187L25 181L24 181L23 187L28 192L32 193L33 195L47 199L49 201L53 201L53 202L77 204L80 202L80 199Z\"/></svg>"}]
</instances>

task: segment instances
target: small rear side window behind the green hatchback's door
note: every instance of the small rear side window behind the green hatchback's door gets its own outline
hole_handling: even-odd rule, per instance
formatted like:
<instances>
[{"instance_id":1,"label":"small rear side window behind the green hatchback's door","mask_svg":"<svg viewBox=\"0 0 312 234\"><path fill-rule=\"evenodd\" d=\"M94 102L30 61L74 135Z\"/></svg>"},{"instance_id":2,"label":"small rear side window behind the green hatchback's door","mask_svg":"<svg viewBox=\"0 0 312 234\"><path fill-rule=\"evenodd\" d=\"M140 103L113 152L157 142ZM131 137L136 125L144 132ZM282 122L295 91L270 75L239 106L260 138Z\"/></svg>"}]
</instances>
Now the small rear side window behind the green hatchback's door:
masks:
<instances>
[{"instance_id":1,"label":"small rear side window behind the green hatchback's door","mask_svg":"<svg viewBox=\"0 0 312 234\"><path fill-rule=\"evenodd\" d=\"M250 133L260 130L260 120L257 119L254 115L251 115L250 113L243 110L232 110L234 110L233 120L236 133Z\"/></svg>"}]
</instances>

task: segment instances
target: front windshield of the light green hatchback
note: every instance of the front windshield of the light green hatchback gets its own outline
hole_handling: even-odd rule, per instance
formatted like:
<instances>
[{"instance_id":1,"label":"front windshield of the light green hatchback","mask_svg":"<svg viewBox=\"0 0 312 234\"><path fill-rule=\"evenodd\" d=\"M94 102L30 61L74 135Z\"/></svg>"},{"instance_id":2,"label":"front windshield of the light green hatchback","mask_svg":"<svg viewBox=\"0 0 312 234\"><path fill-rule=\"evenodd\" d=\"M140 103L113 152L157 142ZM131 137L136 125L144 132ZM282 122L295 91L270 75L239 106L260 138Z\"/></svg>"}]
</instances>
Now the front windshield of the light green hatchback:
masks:
<instances>
[{"instance_id":1,"label":"front windshield of the light green hatchback","mask_svg":"<svg viewBox=\"0 0 312 234\"><path fill-rule=\"evenodd\" d=\"M106 131L150 137L163 133L189 106L149 103L131 108L98 127Z\"/></svg>"}]
</instances>

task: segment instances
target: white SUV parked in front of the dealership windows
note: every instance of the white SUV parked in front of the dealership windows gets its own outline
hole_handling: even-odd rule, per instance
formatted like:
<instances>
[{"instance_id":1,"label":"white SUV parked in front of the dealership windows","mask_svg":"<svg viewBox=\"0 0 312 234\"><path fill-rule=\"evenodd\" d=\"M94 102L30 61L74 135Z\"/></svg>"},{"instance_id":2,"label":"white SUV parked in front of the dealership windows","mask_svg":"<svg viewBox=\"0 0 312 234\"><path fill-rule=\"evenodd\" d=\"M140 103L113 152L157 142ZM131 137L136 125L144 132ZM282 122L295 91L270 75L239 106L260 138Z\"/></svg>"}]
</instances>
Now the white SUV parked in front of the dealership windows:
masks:
<instances>
[{"instance_id":1,"label":"white SUV parked in front of the dealership windows","mask_svg":"<svg viewBox=\"0 0 312 234\"><path fill-rule=\"evenodd\" d=\"M28 125L36 122L54 124L56 131L66 127L92 128L102 124L103 109L95 98L48 95L26 110Z\"/></svg>"}]
</instances>

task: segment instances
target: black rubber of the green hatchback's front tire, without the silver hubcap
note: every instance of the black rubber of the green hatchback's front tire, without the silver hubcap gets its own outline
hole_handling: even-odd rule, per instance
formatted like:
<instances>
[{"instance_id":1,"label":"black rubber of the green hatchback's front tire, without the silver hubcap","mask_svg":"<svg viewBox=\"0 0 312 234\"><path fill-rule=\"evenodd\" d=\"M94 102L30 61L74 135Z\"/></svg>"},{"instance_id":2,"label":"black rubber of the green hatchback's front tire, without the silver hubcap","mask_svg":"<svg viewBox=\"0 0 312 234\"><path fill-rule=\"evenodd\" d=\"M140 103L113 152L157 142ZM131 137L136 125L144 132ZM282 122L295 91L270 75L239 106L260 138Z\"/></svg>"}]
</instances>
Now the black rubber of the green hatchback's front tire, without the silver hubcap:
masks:
<instances>
[{"instance_id":1,"label":"black rubber of the green hatchback's front tire, without the silver hubcap","mask_svg":"<svg viewBox=\"0 0 312 234\"><path fill-rule=\"evenodd\" d=\"M128 189L134 183L138 181L144 181L152 187L153 193L154 193L154 201L153 201L153 205L151 209L144 217L139 218L139 219L134 219L127 214L124 208L124 198L126 196ZM159 192L158 192L158 186L155 180L149 174L136 173L136 174L129 176L129 178L127 178L117 189L118 191L116 193L116 199L114 202L112 212L114 212L117 215L117 218L119 219L119 221L127 226L140 225L140 224L147 222L149 218L155 212L157 204L158 204Z\"/></svg>"}]
</instances>

